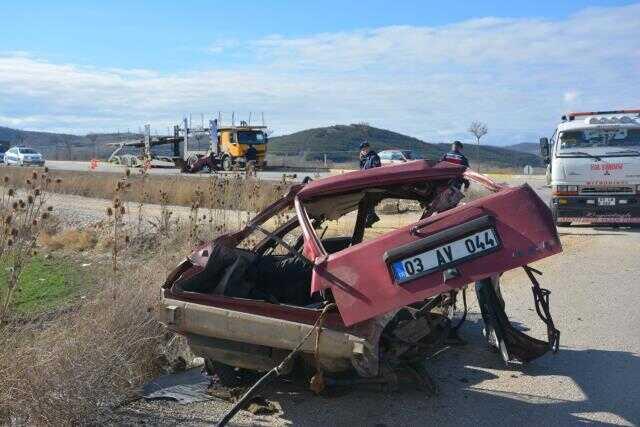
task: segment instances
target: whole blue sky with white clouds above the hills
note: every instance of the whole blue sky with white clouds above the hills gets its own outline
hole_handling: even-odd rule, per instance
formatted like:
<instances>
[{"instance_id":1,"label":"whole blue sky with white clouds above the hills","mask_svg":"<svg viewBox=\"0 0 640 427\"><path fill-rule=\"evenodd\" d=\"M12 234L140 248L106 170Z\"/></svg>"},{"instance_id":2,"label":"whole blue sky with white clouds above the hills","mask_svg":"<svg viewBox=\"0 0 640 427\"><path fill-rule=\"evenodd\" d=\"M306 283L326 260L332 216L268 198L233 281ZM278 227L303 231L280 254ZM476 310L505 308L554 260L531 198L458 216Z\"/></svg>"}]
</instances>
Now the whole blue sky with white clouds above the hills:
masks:
<instances>
[{"instance_id":1,"label":"whole blue sky with white clouds above the hills","mask_svg":"<svg viewBox=\"0 0 640 427\"><path fill-rule=\"evenodd\" d=\"M508 145L568 110L640 108L640 3L0 2L0 126L156 132L264 113Z\"/></svg>"}]
</instances>

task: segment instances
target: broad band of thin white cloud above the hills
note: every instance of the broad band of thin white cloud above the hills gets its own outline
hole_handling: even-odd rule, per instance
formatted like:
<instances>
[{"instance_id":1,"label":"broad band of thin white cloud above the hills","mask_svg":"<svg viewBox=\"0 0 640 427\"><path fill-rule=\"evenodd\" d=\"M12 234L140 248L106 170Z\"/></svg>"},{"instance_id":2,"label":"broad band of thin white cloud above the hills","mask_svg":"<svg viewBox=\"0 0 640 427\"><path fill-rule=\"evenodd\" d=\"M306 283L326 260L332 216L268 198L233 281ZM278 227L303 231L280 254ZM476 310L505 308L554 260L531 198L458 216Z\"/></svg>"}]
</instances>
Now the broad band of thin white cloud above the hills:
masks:
<instances>
[{"instance_id":1,"label":"broad band of thin white cloud above the hills","mask_svg":"<svg viewBox=\"0 0 640 427\"><path fill-rule=\"evenodd\" d=\"M240 44L243 61L190 72L97 69L0 53L0 125L71 132L166 129L192 112L264 111L276 133L367 121L426 140L507 144L549 133L565 108L640 99L640 4L565 20L481 18ZM237 49L236 49L237 50Z\"/></svg>"}]
</instances>

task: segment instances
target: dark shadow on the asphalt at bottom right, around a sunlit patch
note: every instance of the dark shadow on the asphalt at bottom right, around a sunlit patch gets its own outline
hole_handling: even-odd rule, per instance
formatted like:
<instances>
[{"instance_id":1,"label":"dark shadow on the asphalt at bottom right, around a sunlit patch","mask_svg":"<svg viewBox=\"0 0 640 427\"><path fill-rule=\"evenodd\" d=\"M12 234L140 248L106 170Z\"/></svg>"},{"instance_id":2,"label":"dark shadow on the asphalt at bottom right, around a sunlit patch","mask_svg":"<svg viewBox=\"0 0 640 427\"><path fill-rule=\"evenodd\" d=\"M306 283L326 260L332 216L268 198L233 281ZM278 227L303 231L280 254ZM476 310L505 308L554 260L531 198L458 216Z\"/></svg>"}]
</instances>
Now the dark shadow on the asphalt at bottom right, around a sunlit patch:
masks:
<instances>
[{"instance_id":1,"label":"dark shadow on the asphalt at bottom right, around a sunlit patch","mask_svg":"<svg viewBox=\"0 0 640 427\"><path fill-rule=\"evenodd\" d=\"M353 389L336 398L275 387L268 398L281 404L281 418L294 425L640 423L638 355L562 349L512 370L487 350L481 330L482 322L469 322L464 336L470 342L429 365L440 386L435 397L409 387L398 392Z\"/></svg>"}]
</instances>

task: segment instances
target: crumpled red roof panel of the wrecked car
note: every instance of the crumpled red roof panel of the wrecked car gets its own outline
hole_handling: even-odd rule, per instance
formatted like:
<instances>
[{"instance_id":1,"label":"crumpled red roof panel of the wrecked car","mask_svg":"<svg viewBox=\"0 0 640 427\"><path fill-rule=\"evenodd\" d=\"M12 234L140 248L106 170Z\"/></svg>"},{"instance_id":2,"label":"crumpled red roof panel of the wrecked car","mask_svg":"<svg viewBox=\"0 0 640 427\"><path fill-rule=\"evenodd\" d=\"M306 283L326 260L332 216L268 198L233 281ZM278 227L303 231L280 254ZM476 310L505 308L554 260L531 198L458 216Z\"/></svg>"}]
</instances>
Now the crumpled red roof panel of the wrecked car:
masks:
<instances>
[{"instance_id":1,"label":"crumpled red roof panel of the wrecked car","mask_svg":"<svg viewBox=\"0 0 640 427\"><path fill-rule=\"evenodd\" d=\"M464 166L448 162L436 163L429 160L415 160L399 165L347 172L311 181L298 192L298 198L309 200L320 196L386 185L452 179L461 177L465 169Z\"/></svg>"}]
</instances>

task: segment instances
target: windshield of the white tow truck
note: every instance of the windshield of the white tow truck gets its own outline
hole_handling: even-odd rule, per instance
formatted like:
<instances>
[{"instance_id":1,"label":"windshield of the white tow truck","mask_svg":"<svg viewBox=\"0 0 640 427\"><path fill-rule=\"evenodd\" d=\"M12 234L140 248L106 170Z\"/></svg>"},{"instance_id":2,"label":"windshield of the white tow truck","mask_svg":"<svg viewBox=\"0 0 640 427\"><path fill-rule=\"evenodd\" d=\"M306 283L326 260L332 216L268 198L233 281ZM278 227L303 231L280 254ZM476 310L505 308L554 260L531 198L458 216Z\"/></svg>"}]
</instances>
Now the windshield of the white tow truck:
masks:
<instances>
[{"instance_id":1,"label":"windshield of the white tow truck","mask_svg":"<svg viewBox=\"0 0 640 427\"><path fill-rule=\"evenodd\" d=\"M584 129L560 134L562 151L595 147L640 148L640 129Z\"/></svg>"}]
</instances>

